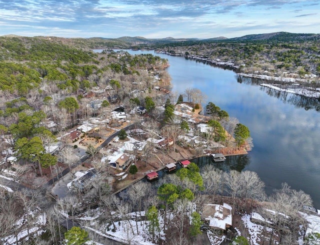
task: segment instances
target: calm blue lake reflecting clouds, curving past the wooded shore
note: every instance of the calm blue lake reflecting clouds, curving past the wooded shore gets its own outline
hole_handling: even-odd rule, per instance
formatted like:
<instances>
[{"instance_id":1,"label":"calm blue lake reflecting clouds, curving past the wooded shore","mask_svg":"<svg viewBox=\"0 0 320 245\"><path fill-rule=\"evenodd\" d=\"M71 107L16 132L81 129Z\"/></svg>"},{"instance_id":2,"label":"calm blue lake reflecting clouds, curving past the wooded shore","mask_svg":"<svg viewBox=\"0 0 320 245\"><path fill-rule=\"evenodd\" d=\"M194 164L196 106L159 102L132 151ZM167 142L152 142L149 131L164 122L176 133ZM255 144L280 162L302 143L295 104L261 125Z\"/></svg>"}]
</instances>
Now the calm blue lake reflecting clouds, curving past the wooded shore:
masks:
<instances>
[{"instance_id":1,"label":"calm blue lake reflecting clouds, curving past the wooded shore","mask_svg":"<svg viewBox=\"0 0 320 245\"><path fill-rule=\"evenodd\" d=\"M262 80L237 77L232 70L201 61L153 51L127 51L167 58L173 92L198 88L207 96L204 104L212 101L249 128L254 144L249 154L228 157L221 164L257 172L267 194L287 182L310 194L314 206L320 208L318 100L262 87Z\"/></svg>"}]
</instances>

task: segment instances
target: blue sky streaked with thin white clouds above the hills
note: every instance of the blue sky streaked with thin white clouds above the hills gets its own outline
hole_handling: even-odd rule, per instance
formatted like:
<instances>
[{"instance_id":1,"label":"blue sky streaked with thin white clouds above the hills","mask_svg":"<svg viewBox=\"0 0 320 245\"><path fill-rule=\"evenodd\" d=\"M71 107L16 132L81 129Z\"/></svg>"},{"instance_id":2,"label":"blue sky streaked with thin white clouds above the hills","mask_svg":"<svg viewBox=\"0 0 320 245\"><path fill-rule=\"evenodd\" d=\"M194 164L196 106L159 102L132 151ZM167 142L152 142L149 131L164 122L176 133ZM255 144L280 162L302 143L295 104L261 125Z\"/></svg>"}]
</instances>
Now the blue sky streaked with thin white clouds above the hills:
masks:
<instances>
[{"instance_id":1,"label":"blue sky streaked with thin white clouds above the hills","mask_svg":"<svg viewBox=\"0 0 320 245\"><path fill-rule=\"evenodd\" d=\"M319 27L320 0L0 0L0 35L231 38Z\"/></svg>"}]
</instances>

